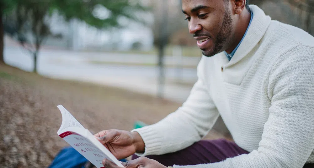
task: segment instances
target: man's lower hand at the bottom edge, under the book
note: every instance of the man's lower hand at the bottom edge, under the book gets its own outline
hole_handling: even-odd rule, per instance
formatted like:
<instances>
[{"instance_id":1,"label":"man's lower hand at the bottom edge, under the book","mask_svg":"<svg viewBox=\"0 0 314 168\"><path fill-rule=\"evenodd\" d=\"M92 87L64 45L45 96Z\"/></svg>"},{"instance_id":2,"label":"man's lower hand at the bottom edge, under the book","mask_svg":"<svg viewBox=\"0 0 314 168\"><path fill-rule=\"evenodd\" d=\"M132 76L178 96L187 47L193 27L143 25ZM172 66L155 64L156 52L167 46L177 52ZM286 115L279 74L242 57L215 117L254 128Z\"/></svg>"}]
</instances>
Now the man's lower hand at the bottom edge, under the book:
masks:
<instances>
[{"instance_id":1,"label":"man's lower hand at the bottom edge, under the book","mask_svg":"<svg viewBox=\"0 0 314 168\"><path fill-rule=\"evenodd\" d=\"M102 160L102 164L106 168L120 168L119 166L107 159ZM126 168L168 168L160 164L158 161L148 159L147 157L139 157L135 160L122 162L121 164Z\"/></svg>"}]
</instances>

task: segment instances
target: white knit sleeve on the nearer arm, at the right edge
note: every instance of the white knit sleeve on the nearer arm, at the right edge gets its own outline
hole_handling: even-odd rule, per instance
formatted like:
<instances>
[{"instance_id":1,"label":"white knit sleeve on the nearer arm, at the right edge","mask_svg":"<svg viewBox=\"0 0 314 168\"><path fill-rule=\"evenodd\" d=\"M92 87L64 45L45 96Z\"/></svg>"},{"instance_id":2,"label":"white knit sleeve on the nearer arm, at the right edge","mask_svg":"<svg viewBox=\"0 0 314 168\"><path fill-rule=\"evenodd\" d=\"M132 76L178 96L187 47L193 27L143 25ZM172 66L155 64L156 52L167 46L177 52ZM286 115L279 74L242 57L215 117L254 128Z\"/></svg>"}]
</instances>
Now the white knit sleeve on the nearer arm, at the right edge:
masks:
<instances>
[{"instance_id":1,"label":"white knit sleeve on the nearer arm, at the right edge","mask_svg":"<svg viewBox=\"0 0 314 168\"><path fill-rule=\"evenodd\" d=\"M193 168L301 168L314 149L314 49L296 47L269 72L269 117L259 148L219 163Z\"/></svg>"}]
</instances>

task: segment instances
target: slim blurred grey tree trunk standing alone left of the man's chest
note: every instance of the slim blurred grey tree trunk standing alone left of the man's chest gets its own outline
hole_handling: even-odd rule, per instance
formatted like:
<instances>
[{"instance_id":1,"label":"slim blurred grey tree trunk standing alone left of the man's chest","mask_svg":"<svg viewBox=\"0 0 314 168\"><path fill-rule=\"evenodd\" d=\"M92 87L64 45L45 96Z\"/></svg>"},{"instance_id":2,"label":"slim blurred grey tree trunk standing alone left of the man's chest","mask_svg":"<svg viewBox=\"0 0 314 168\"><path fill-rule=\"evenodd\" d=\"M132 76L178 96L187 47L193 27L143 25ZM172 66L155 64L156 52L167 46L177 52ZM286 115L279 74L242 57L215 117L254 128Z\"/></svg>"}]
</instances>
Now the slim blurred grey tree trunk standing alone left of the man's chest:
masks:
<instances>
[{"instance_id":1,"label":"slim blurred grey tree trunk standing alone left of the man's chest","mask_svg":"<svg viewBox=\"0 0 314 168\"><path fill-rule=\"evenodd\" d=\"M157 96L159 98L164 97L164 87L165 87L165 73L164 73L164 49L165 46L160 44L158 46L158 68L159 68L159 78L158 78L158 91Z\"/></svg>"}]
</instances>

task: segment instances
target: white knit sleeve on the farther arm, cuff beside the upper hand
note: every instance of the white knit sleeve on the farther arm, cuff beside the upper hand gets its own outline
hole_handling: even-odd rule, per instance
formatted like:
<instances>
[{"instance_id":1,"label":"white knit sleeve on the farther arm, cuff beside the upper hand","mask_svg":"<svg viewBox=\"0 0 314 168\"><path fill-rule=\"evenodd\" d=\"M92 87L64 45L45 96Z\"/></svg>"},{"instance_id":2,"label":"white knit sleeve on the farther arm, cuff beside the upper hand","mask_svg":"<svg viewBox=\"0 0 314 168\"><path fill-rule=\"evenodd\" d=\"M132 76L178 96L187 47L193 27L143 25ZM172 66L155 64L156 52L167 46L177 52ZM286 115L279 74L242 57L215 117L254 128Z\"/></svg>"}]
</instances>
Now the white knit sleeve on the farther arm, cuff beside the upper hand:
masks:
<instances>
[{"instance_id":1,"label":"white knit sleeve on the farther arm, cuff beside the upper hand","mask_svg":"<svg viewBox=\"0 0 314 168\"><path fill-rule=\"evenodd\" d=\"M203 71L204 56L198 64L198 81L182 107L154 125L132 130L145 143L145 152L137 155L162 155L184 149L213 127L219 113L209 97Z\"/></svg>"}]
</instances>

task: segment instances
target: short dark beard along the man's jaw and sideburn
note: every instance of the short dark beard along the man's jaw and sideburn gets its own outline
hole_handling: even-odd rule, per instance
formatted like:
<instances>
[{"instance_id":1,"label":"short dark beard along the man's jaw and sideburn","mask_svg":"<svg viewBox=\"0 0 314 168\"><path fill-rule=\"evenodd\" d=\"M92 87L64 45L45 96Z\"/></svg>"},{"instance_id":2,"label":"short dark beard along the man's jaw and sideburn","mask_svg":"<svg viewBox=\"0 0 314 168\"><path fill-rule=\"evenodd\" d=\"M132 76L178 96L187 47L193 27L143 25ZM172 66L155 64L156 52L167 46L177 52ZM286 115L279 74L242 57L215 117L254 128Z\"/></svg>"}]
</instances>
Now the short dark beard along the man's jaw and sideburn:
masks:
<instances>
[{"instance_id":1,"label":"short dark beard along the man's jaw and sideburn","mask_svg":"<svg viewBox=\"0 0 314 168\"><path fill-rule=\"evenodd\" d=\"M214 47L209 50L202 50L202 53L206 57L212 57L217 53L222 52L223 47L225 46L226 41L231 35L232 31L232 18L229 11L229 6L226 5L226 10L224 13L224 18L222 21L221 28L217 34L217 38L214 42Z\"/></svg>"}]
</instances>

